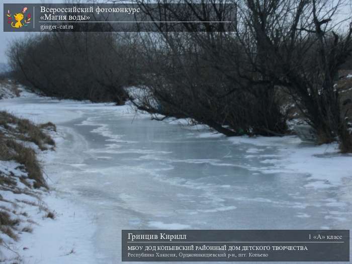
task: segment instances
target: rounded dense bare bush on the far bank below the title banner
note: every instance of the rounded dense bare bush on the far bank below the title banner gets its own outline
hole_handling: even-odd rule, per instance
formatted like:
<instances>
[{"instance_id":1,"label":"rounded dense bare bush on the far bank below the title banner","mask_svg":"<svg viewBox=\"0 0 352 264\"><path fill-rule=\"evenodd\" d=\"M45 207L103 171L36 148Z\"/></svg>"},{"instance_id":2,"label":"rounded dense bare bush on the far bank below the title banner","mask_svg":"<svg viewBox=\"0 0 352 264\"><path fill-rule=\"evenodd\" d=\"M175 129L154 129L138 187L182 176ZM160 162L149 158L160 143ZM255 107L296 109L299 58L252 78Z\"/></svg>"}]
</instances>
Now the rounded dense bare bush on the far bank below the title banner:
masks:
<instances>
[{"instance_id":1,"label":"rounded dense bare bush on the far bank below the title banner","mask_svg":"<svg viewBox=\"0 0 352 264\"><path fill-rule=\"evenodd\" d=\"M53 32L18 41L8 55L17 78L47 96L124 104L131 48L111 32Z\"/></svg>"}]
</instances>

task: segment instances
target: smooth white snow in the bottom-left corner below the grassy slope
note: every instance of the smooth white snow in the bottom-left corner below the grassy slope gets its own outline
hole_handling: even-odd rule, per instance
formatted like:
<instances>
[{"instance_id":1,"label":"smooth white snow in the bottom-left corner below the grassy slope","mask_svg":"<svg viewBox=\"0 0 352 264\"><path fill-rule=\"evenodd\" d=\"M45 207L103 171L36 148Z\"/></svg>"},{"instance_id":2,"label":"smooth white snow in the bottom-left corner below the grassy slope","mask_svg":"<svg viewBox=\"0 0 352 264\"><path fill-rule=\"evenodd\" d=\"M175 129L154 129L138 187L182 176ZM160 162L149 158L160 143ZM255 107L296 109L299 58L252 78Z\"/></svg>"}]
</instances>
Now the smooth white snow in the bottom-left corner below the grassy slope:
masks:
<instances>
[{"instance_id":1,"label":"smooth white snow in the bottom-left corner below the grassy slope","mask_svg":"<svg viewBox=\"0 0 352 264\"><path fill-rule=\"evenodd\" d=\"M0 162L2 171L18 171L15 162ZM24 187L18 182L18 188ZM2 233L0 262L4 263L94 263L90 239L95 231L92 216L56 191L26 189L16 194L0 191L1 210L18 221L16 240ZM51 213L53 218L50 217ZM48 216L49 215L49 216Z\"/></svg>"}]
</instances>

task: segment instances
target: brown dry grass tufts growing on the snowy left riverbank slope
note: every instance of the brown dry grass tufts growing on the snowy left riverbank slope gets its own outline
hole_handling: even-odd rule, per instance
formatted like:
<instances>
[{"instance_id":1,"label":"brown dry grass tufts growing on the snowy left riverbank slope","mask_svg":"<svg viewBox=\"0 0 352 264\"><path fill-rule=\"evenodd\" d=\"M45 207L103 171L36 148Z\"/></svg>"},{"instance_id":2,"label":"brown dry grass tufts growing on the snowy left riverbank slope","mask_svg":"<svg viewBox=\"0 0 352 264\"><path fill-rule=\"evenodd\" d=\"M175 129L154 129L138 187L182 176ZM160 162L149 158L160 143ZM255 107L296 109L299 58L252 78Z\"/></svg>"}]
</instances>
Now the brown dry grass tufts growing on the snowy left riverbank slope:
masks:
<instances>
[{"instance_id":1,"label":"brown dry grass tufts growing on the snowy left riverbank slope","mask_svg":"<svg viewBox=\"0 0 352 264\"><path fill-rule=\"evenodd\" d=\"M17 181L15 181L15 172L2 172L0 171L0 190L9 190L14 194L21 193L36 196L36 193L31 188L47 188L46 181L43 177L41 165L37 159L37 149L45 150L50 146L53 148L55 142L53 139L45 133L45 130L55 131L56 127L52 123L46 123L40 126L36 126L29 120L17 118L7 112L0 112L0 160L4 161L16 161L19 163L16 169L26 171L27 175L19 177L19 181L25 184L28 188L19 188ZM27 142L33 142L38 148L26 146ZM28 181L32 179L34 181ZM33 186L32 183L33 182ZM45 209L45 216L54 218L55 215L50 213L43 204L37 204L33 201L17 200L16 202L7 201L0 195L0 200L11 203L14 208L18 208L18 203L25 203L36 206L38 208ZM9 204L10 205L10 204ZM30 224L36 224L31 219L26 219L25 222L28 224L24 227L19 227L20 222L24 222L20 217L29 217L26 212L18 212L18 210L8 209L6 207L0 208L0 232L8 235L15 241L19 239L21 232L32 232ZM15 218L14 216L15 215ZM0 246L7 246L4 241L0 239Z\"/></svg>"}]
</instances>

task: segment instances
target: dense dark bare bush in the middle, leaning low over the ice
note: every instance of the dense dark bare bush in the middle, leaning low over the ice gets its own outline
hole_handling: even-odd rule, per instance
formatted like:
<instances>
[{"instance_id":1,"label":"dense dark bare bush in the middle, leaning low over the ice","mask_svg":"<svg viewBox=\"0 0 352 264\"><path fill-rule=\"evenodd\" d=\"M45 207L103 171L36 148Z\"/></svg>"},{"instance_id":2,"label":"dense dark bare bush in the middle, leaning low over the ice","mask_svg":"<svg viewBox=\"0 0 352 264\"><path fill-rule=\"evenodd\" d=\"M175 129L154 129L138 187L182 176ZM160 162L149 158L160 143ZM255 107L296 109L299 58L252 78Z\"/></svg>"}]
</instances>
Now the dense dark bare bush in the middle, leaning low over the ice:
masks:
<instances>
[{"instance_id":1,"label":"dense dark bare bush in the middle, leaning low over the ice","mask_svg":"<svg viewBox=\"0 0 352 264\"><path fill-rule=\"evenodd\" d=\"M206 23L211 20L212 12L217 20L226 19L226 4L231 2L204 1L197 8L186 10L186 15L183 10L174 12L173 6L165 3L162 1L161 6L166 11L158 10L156 15L143 2L141 6L153 21L168 21L172 16L180 21L180 17L192 15L204 21L201 24L208 31L165 32L170 26L167 22L155 23L161 33L147 35L145 48L149 50L147 55L157 56L148 59L148 68L153 69L145 82L148 98L139 100L143 105L138 107L165 116L191 117L228 136L285 133L285 115L274 85L257 83L256 72L243 77L242 67L247 58L242 55L241 43L234 39L233 33L217 31L218 28L214 31L211 29L214 25ZM185 3L191 6L190 2ZM163 15L162 19L159 14ZM181 27L194 31L198 26L182 23L177 30Z\"/></svg>"}]
</instances>

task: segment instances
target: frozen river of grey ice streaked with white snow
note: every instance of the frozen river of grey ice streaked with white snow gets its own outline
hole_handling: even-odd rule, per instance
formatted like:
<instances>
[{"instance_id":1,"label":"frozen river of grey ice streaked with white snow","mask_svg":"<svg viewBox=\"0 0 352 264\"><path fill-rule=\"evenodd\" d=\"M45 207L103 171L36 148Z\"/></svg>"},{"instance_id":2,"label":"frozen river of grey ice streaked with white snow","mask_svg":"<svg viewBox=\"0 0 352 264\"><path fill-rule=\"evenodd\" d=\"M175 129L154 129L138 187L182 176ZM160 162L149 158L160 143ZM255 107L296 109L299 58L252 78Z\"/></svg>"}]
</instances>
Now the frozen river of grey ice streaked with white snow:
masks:
<instances>
[{"instance_id":1,"label":"frozen river of grey ice streaked with white snow","mask_svg":"<svg viewBox=\"0 0 352 264\"><path fill-rule=\"evenodd\" d=\"M45 170L63 197L93 216L97 230L87 239L96 263L120 262L121 229L352 226L351 178L339 177L343 185L312 178L311 166L321 169L309 163L315 147L296 137L228 139L135 116L127 106L37 97L5 100L2 109L57 123L64 140ZM322 151L312 161L327 160L316 163L327 164L324 173L343 168L348 176L350 156ZM283 159L292 153L297 164L286 166ZM331 167L336 158L342 168Z\"/></svg>"}]
</instances>

